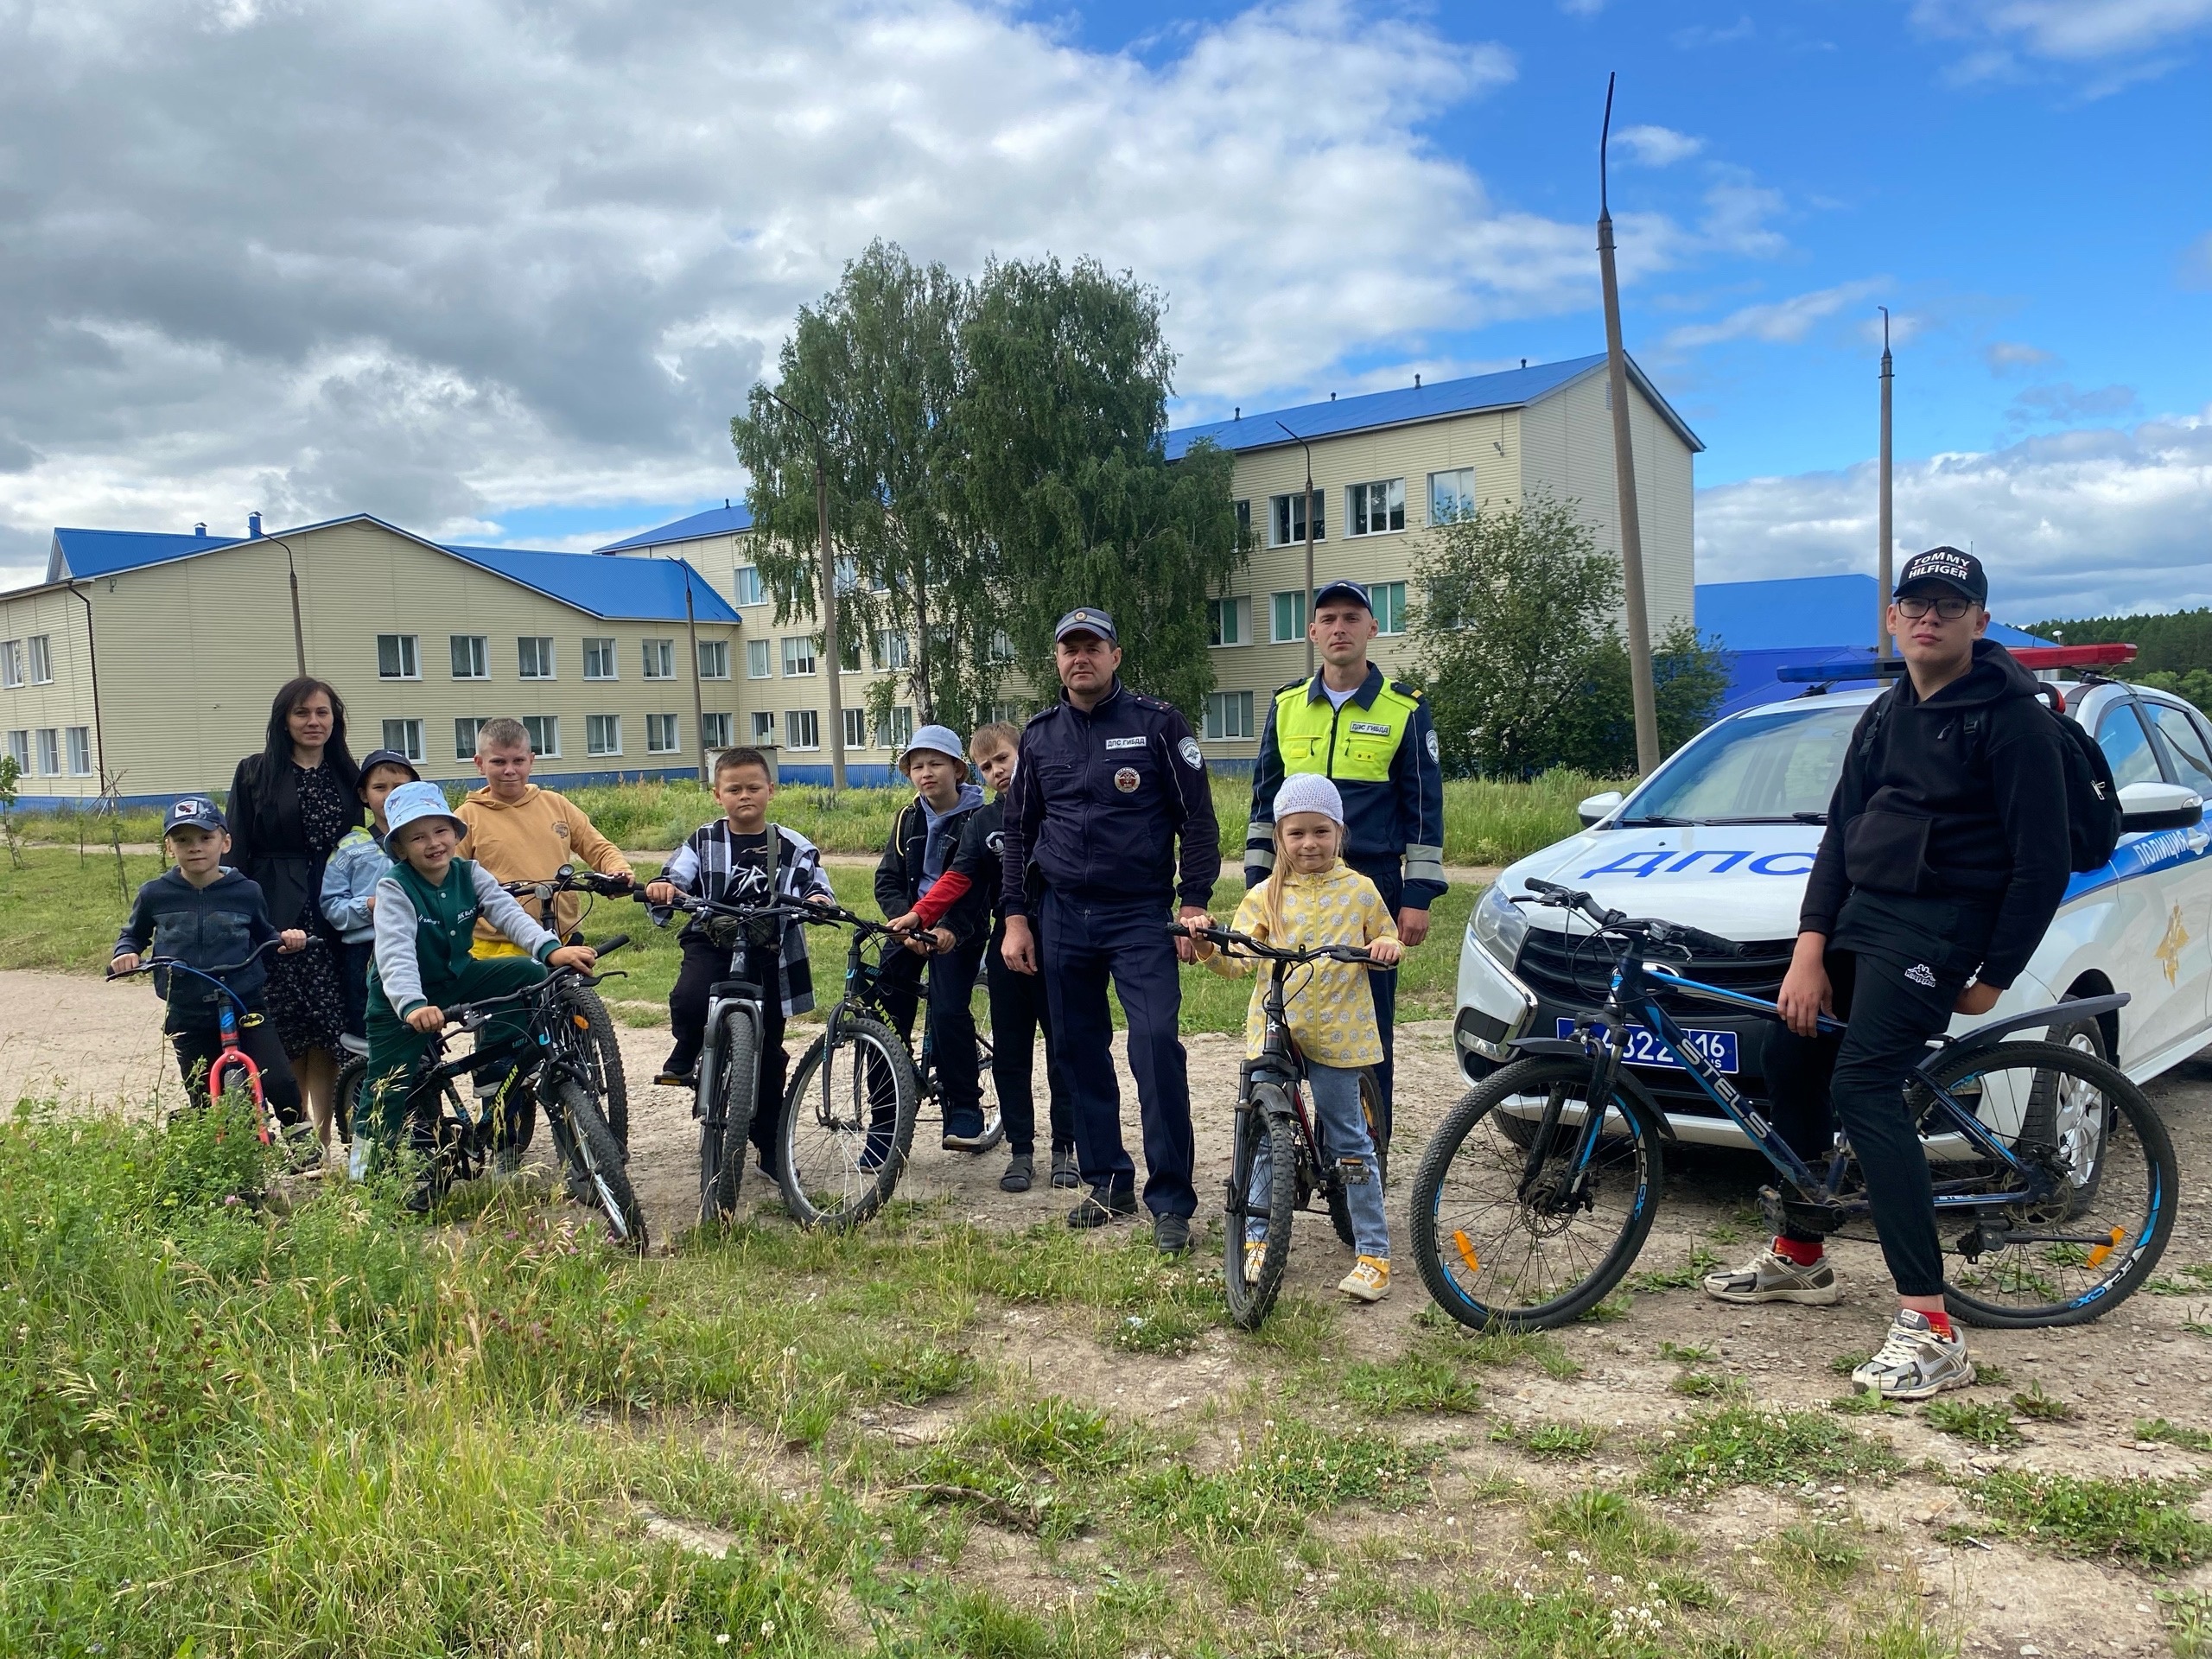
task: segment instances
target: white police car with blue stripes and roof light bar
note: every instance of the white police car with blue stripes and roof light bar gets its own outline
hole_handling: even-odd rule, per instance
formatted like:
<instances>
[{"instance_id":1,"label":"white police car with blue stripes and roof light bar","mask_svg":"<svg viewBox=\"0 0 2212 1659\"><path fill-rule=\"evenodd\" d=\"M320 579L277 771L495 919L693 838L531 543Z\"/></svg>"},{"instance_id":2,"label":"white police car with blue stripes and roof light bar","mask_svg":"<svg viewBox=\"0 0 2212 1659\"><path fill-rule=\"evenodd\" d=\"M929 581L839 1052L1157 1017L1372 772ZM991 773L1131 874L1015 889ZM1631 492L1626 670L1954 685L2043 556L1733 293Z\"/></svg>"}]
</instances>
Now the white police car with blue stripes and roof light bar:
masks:
<instances>
[{"instance_id":1,"label":"white police car with blue stripes and roof light bar","mask_svg":"<svg viewBox=\"0 0 2212 1659\"><path fill-rule=\"evenodd\" d=\"M2015 655L2046 668L2035 659L2062 653ZM2053 1037L2117 1060L2141 1082L2212 1042L2212 830L2201 814L2212 799L2212 721L2146 686L2051 690L2104 748L2126 832L2104 869L2070 880L2028 969L1980 1020L2126 991L2132 1000L2117 1015ZM1878 695L1876 686L1820 686L1730 714L1626 799L1606 792L1584 801L1579 836L1506 867L1475 902L1460 947L1453 1037L1467 1079L1511 1060L1515 1037L1566 1035L1577 1009L1606 993L1610 962L1579 918L1506 902L1506 894L1526 891L1528 876L1582 887L1628 916L1663 916L1734 940L1741 958L1701 958L1681 971L1772 998L1796 945L1805 876L1851 728ZM1770 1020L1677 995L1666 1006L1699 1053L1743 1091L1763 1093ZM1747 1144L1646 1031L1630 1033L1626 1060L1679 1139Z\"/></svg>"}]
</instances>

